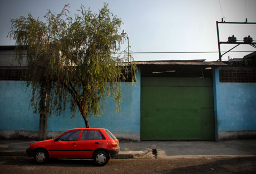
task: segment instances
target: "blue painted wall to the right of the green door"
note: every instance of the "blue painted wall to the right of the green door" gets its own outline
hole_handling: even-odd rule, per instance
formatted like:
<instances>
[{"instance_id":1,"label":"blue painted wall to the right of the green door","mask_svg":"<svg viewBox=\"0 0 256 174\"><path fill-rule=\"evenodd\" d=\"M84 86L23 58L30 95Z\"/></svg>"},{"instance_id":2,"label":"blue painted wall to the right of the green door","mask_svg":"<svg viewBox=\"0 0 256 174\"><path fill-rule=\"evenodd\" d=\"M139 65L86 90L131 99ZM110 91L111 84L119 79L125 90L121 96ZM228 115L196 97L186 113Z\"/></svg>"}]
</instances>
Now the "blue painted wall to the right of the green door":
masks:
<instances>
[{"instance_id":1,"label":"blue painted wall to the right of the green door","mask_svg":"<svg viewBox=\"0 0 256 174\"><path fill-rule=\"evenodd\" d=\"M215 129L256 130L256 83L221 83L214 70Z\"/></svg>"}]
</instances>

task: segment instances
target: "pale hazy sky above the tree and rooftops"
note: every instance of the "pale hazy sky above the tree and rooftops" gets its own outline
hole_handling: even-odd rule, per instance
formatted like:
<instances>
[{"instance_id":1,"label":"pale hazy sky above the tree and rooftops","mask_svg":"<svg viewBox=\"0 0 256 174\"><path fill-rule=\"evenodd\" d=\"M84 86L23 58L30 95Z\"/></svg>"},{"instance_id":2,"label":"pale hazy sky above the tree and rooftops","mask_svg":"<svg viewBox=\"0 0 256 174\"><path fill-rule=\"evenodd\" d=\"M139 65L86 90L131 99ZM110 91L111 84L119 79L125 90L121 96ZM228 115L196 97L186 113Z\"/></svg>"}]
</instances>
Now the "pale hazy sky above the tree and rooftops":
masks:
<instances>
[{"instance_id":1,"label":"pale hazy sky above the tree and rooftops","mask_svg":"<svg viewBox=\"0 0 256 174\"><path fill-rule=\"evenodd\" d=\"M122 29L129 35L129 45L135 61L206 59L217 61L218 40L216 21L256 22L255 0L1 0L0 46L14 45L7 38L11 19L27 16L43 19L47 9L60 13L70 4L70 14L78 13L81 4L94 12L109 4L110 11L121 18ZM238 40L250 35L256 40L256 24L219 24L220 41L234 34ZM235 45L221 44L221 51ZM121 50L127 48L127 41ZM256 51L249 45L240 45L233 51ZM140 52L140 53L138 53ZM143 52L143 53L141 53ZM217 53L145 53L145 52L217 52ZM223 60L243 58L250 52L227 53Z\"/></svg>"}]
</instances>

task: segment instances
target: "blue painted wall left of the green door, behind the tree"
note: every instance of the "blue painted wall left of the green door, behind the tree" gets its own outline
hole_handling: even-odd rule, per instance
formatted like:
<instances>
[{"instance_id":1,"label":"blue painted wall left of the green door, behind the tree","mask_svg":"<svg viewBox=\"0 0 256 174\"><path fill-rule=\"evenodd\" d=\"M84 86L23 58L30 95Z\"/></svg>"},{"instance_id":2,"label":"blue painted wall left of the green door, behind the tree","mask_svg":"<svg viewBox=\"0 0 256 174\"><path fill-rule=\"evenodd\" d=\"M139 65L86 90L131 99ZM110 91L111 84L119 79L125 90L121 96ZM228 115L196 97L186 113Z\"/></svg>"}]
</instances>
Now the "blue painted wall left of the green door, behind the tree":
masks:
<instances>
[{"instance_id":1,"label":"blue painted wall left of the green door, behind the tree","mask_svg":"<svg viewBox=\"0 0 256 174\"><path fill-rule=\"evenodd\" d=\"M122 82L121 110L116 113L115 101L109 97L104 103L101 117L90 117L91 127L108 128L115 133L140 133L140 69L137 82ZM37 131L39 115L28 110L31 93L21 81L0 81L0 130ZM70 128L85 127L85 122L77 112L71 118L69 107L63 116L48 118L47 131L66 131Z\"/></svg>"}]
</instances>

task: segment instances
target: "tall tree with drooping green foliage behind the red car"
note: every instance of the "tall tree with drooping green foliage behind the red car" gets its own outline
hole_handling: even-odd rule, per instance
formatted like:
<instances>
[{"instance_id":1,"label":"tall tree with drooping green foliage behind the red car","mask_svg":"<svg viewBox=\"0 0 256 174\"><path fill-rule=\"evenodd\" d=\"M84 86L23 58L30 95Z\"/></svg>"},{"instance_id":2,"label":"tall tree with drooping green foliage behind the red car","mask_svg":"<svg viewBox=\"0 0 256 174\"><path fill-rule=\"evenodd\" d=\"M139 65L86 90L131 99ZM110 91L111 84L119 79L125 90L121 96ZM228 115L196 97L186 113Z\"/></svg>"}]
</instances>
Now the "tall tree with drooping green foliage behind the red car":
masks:
<instances>
[{"instance_id":1,"label":"tall tree with drooping green foliage behind the red car","mask_svg":"<svg viewBox=\"0 0 256 174\"><path fill-rule=\"evenodd\" d=\"M30 106L45 119L42 125L47 123L47 115L64 114L66 103L70 103L72 117L78 108L85 126L90 127L88 117L99 117L101 101L110 95L119 110L120 82L128 76L136 81L136 66L127 62L126 54L114 54L120 50L122 22L107 4L99 13L81 6L74 19L67 8L65 5L57 15L48 10L45 22L30 13L12 19L8 36L16 40L17 60L27 61ZM40 131L46 132L46 128Z\"/></svg>"}]
</instances>

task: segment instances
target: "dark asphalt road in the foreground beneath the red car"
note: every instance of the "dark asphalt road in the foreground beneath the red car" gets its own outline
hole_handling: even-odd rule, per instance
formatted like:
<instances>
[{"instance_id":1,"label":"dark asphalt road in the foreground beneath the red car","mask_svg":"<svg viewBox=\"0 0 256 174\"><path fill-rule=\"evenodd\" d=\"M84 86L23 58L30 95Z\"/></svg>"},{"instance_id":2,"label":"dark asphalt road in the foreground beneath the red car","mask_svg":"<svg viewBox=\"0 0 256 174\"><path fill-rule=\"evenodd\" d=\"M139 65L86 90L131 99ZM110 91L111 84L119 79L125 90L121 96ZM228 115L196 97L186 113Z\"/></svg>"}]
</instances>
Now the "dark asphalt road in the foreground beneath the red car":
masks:
<instances>
[{"instance_id":1,"label":"dark asphalt road in the foreground beneath the red car","mask_svg":"<svg viewBox=\"0 0 256 174\"><path fill-rule=\"evenodd\" d=\"M104 167L91 160L53 160L37 165L32 158L0 156L4 173L247 173L256 172L256 157L175 158L175 159L112 159Z\"/></svg>"}]
</instances>

